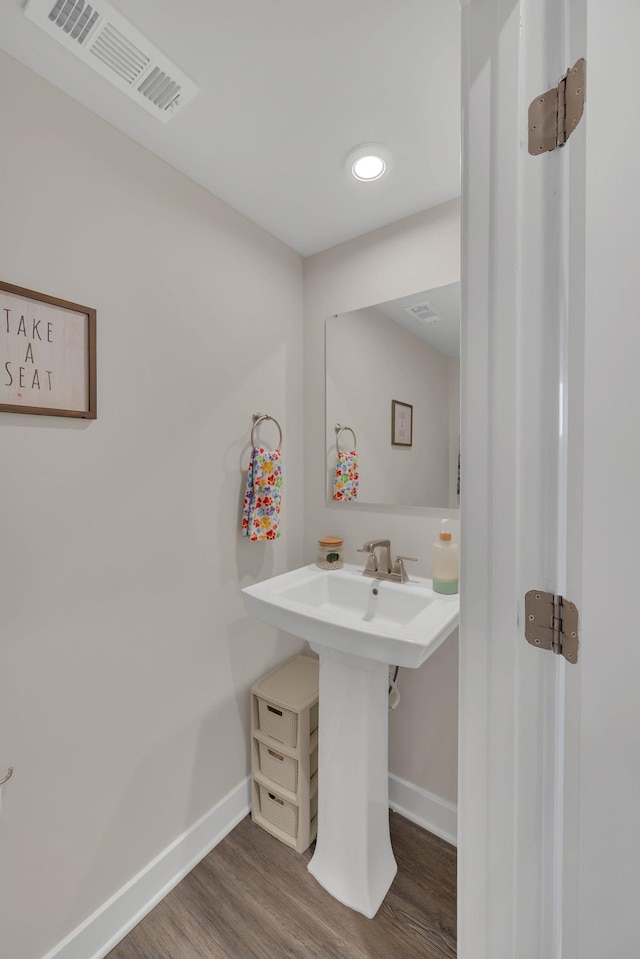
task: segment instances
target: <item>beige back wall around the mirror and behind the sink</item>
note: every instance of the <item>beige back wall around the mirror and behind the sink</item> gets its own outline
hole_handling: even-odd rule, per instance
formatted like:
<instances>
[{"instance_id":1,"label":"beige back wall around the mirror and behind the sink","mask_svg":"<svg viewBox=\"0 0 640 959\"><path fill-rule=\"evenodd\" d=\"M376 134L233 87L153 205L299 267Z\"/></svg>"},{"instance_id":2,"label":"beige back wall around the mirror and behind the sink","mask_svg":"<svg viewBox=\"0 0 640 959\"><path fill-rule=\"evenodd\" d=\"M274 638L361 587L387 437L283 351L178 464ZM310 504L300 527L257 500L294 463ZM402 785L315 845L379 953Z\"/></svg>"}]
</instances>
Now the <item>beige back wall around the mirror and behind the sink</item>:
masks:
<instances>
[{"instance_id":1,"label":"beige back wall around the mirror and behind the sink","mask_svg":"<svg viewBox=\"0 0 640 959\"><path fill-rule=\"evenodd\" d=\"M389 537L396 553L417 556L415 572L431 575L431 547L441 512L346 505L325 499L324 322L460 279L460 203L451 200L323 253L304 263L305 539L313 561L319 536L344 537L345 558ZM458 523L452 523L454 536ZM412 564L412 570L414 566ZM410 675L400 672L402 702L390 717L389 764L397 776L452 802L457 798L457 634Z\"/></svg>"}]
</instances>

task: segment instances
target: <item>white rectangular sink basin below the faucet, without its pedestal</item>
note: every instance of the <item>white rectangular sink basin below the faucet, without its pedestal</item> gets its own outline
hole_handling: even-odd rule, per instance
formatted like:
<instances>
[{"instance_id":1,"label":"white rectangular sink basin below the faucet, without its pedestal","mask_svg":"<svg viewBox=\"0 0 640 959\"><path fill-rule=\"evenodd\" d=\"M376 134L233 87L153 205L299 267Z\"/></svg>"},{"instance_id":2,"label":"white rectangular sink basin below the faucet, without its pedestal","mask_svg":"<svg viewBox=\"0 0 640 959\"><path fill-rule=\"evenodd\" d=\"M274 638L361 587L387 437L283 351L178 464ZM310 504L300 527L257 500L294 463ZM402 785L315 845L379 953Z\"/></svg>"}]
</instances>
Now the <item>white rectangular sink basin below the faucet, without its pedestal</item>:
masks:
<instances>
[{"instance_id":1,"label":"white rectangular sink basin below the faucet, without its pedestal","mask_svg":"<svg viewBox=\"0 0 640 959\"><path fill-rule=\"evenodd\" d=\"M397 666L420 666L458 624L458 596L431 581L377 580L362 569L303 566L242 590L258 619L330 649Z\"/></svg>"}]
</instances>

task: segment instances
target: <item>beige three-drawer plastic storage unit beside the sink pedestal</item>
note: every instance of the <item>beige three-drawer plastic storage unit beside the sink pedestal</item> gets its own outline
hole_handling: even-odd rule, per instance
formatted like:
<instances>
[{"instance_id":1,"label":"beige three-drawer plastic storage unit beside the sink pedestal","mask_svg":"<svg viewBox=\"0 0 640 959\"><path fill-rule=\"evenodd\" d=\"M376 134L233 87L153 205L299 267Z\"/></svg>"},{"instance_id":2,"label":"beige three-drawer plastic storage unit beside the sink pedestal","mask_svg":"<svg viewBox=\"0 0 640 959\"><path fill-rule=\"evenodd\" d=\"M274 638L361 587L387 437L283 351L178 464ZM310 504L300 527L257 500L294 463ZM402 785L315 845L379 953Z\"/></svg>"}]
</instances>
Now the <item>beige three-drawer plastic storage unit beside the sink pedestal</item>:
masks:
<instances>
[{"instance_id":1,"label":"beige three-drawer plastic storage unit beside the sink pedestal","mask_svg":"<svg viewBox=\"0 0 640 959\"><path fill-rule=\"evenodd\" d=\"M251 688L251 818L304 852L318 828L318 660L293 656Z\"/></svg>"}]
</instances>

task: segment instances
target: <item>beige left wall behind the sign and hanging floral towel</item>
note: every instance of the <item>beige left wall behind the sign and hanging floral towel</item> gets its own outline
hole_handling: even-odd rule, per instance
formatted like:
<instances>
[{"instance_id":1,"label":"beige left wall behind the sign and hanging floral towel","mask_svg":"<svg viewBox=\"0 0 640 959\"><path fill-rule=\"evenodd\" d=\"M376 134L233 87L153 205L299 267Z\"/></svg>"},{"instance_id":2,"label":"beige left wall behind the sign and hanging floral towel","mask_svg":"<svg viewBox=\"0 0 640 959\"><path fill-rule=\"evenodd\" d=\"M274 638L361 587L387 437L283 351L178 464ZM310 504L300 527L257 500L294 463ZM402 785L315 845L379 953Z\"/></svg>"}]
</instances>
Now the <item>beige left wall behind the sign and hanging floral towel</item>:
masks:
<instances>
[{"instance_id":1,"label":"beige left wall behind the sign and hanging floral towel","mask_svg":"<svg viewBox=\"0 0 640 959\"><path fill-rule=\"evenodd\" d=\"M303 558L302 261L5 55L0 89L1 277L98 317L95 422L0 414L0 953L37 959L242 780L249 687L297 649L239 588ZM269 544L238 534L254 410Z\"/></svg>"}]
</instances>

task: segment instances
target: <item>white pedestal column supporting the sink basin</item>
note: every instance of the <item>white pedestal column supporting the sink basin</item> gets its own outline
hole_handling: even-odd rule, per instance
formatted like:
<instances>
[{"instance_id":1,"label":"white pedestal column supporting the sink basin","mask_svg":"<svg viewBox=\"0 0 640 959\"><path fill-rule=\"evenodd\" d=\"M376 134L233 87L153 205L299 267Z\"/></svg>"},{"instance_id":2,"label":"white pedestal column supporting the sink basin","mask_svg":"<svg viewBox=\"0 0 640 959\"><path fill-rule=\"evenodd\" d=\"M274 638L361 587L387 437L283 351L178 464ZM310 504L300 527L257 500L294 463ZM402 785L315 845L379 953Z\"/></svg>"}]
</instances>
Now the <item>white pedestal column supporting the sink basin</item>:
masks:
<instances>
[{"instance_id":1,"label":"white pedestal column supporting the sink basin","mask_svg":"<svg viewBox=\"0 0 640 959\"><path fill-rule=\"evenodd\" d=\"M320 657L318 838L309 872L373 918L397 871L389 836L389 667L311 642Z\"/></svg>"}]
</instances>

